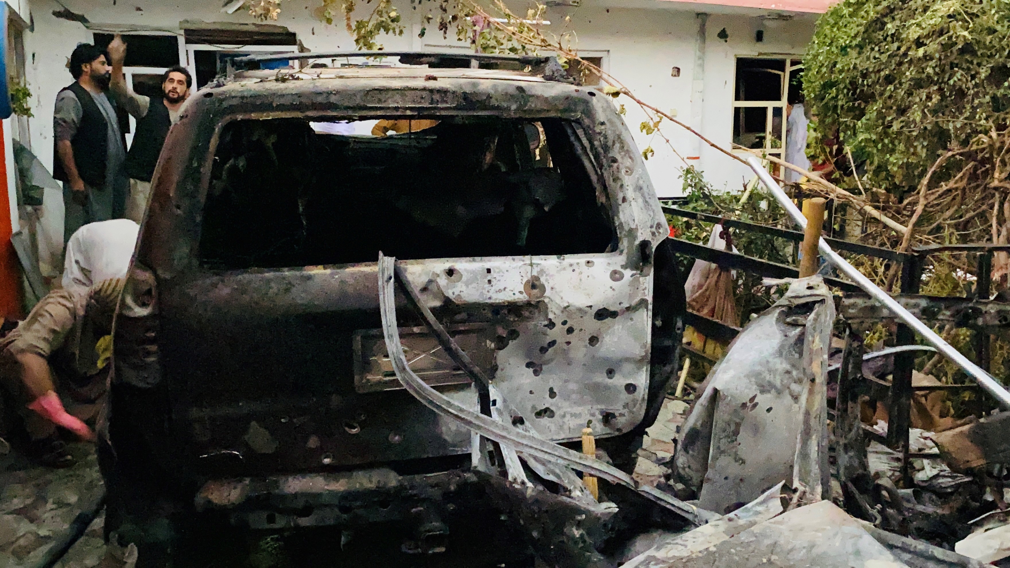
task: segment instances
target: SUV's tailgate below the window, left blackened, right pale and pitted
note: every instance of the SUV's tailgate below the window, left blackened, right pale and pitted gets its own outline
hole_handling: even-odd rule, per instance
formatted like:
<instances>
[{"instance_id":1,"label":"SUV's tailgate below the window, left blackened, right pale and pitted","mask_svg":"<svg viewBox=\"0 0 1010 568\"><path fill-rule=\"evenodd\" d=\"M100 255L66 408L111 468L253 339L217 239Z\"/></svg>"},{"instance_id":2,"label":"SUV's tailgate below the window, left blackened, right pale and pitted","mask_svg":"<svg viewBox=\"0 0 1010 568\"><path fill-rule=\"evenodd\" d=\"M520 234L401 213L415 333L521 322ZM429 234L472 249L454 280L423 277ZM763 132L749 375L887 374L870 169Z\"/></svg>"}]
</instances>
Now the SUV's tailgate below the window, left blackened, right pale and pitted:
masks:
<instances>
[{"instance_id":1,"label":"SUV's tailgate below the window, left blackened, right pale and pitted","mask_svg":"<svg viewBox=\"0 0 1010 568\"><path fill-rule=\"evenodd\" d=\"M539 435L561 441L580 440L589 420L597 436L628 432L644 414L652 281L625 262L620 253L608 253L402 266L427 305L440 313L450 308L454 324L490 323L496 387ZM621 280L614 281L618 273ZM161 308L172 313L159 332L166 346L230 346L224 353L234 354L162 348L165 372L176 383L175 424L193 441L191 456L240 451L251 421L280 444L276 454L246 457L246 467L261 470L276 471L282 463L328 465L326 454L337 460L331 463L349 465L469 453L465 429L414 407L402 390L355 388L360 359L351 336L379 323L372 311L374 264L178 283L163 288ZM369 290L375 295L367 300ZM272 300L276 305L269 305ZM278 328L301 332L278 336ZM256 349L238 353L242 345ZM278 362L287 362L283 372ZM470 384L439 388L461 403L474 400ZM199 410L200 418L192 419L188 408ZM367 417L358 419L361 414ZM280 421L286 416L307 420L294 428ZM350 434L344 422L360 432ZM310 444L313 436L318 445Z\"/></svg>"}]
</instances>

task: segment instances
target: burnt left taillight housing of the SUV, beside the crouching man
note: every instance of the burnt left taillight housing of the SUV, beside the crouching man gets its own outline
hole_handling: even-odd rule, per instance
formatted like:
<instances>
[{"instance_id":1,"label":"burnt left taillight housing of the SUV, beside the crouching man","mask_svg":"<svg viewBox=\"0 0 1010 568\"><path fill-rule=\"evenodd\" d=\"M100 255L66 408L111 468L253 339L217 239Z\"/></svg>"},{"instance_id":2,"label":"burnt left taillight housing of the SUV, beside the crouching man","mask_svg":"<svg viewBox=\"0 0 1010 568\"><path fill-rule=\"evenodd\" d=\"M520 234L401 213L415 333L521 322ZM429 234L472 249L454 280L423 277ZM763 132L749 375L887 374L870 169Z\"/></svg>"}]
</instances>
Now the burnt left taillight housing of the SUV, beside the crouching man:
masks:
<instances>
[{"instance_id":1,"label":"burnt left taillight housing of the SUV, beside the crouching man","mask_svg":"<svg viewBox=\"0 0 1010 568\"><path fill-rule=\"evenodd\" d=\"M123 288L113 346L116 382L152 387L161 381L158 283L155 274L140 263L133 263Z\"/></svg>"}]
</instances>

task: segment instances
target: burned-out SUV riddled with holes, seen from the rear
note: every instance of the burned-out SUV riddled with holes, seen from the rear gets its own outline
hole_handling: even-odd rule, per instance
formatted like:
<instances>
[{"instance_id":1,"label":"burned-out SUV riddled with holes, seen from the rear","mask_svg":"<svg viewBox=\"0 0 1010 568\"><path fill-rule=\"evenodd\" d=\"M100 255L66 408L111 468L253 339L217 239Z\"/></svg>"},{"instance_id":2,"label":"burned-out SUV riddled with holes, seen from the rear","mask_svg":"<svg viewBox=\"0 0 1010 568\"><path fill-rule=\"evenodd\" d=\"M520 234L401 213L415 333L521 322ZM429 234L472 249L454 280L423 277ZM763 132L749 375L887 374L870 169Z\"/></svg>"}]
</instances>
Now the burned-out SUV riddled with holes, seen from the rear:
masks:
<instances>
[{"instance_id":1,"label":"burned-out SUV riddled with holes, seen from the rear","mask_svg":"<svg viewBox=\"0 0 1010 568\"><path fill-rule=\"evenodd\" d=\"M426 66L237 72L187 103L116 322L110 531L172 516L126 477L254 529L479 504L471 433L391 367L380 252L543 438L654 420L683 288L610 97L548 58L400 60ZM414 371L476 408L400 313Z\"/></svg>"}]
</instances>

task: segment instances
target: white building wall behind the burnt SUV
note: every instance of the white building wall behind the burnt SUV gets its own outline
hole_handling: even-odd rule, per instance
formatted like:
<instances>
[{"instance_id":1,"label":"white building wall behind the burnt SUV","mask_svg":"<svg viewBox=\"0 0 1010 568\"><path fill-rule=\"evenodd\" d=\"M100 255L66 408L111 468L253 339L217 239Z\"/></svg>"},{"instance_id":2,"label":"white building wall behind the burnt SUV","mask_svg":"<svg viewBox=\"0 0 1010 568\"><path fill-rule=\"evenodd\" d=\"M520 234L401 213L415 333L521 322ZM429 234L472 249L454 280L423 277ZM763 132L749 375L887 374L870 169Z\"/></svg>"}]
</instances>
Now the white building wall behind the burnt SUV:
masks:
<instances>
[{"instance_id":1,"label":"white building wall behind the burnt SUV","mask_svg":"<svg viewBox=\"0 0 1010 568\"><path fill-rule=\"evenodd\" d=\"M19 1L23 4L28 0ZM206 0L132 0L117 2L115 6L112 2L100 0L63 0L63 3L71 10L84 14L93 28L112 23L179 32L179 22L183 19L252 21L244 10L224 14L219 10L220 2ZM280 19L270 23L287 26L313 52L354 50L354 41L343 28L342 21L326 25L313 17L312 12L317 5L315 0L287 0L283 3ZM387 50L431 50L425 43L443 42L434 29L429 29L424 39L417 38L419 26L416 24L422 12L410 10L406 1L396 5L404 12L406 32L402 37L381 36L380 41ZM662 8L607 8L596 5L552 8L546 15L551 25L544 29L554 34L566 30L577 31L578 48L587 51L590 56L605 56L605 70L639 98L665 111L674 111L679 119L690 122L698 26L695 11L706 7L678 2L658 2L655 5ZM362 6L361 16L364 17L364 10L371 6L364 3ZM34 32L25 34L25 51L27 79L34 95L32 148L42 163L52 167L53 103L60 89L73 80L66 69L71 52L77 43L91 41L92 34L81 23L53 16L54 10L62 9L54 0L30 0L30 7ZM752 10L752 13L756 15L761 12ZM570 24L565 23L566 15L572 16ZM812 33L814 18L800 17L783 22L778 27L766 25L763 43L753 40L754 21L754 17L746 15L713 14L708 19L703 133L727 149L732 136L735 57L759 53L801 54ZM726 42L716 37L723 27L729 33ZM680 68L680 77L671 76L674 67ZM627 110L625 120L639 149L650 146L655 152L646 162L646 168L660 196L680 194L681 181L678 178L688 164L704 170L706 177L720 189L735 190L740 187L740 179L749 179L741 166L707 147L703 147L699 160L678 158L661 135L646 135L639 131L638 126L645 118L633 101L620 97L614 102L624 104ZM691 158L696 152L693 134L683 128L668 123L663 132L682 158Z\"/></svg>"}]
</instances>

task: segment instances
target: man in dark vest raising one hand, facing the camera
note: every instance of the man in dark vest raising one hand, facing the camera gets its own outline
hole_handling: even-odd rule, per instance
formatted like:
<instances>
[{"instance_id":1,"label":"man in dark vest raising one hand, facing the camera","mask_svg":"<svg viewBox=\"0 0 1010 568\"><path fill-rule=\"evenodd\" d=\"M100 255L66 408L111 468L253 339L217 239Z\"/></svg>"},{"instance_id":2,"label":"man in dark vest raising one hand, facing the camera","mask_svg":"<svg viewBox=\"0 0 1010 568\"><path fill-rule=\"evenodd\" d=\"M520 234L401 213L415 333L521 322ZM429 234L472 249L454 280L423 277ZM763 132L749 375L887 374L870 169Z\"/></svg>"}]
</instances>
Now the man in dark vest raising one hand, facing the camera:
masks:
<instances>
[{"instance_id":1,"label":"man in dark vest raising one hand, facing the camera","mask_svg":"<svg viewBox=\"0 0 1010 568\"><path fill-rule=\"evenodd\" d=\"M158 156L169 128L179 120L179 109L189 96L193 79L186 69L176 66L162 76L161 97L138 95L126 85L123 77L126 43L118 33L109 43L108 51L112 58L112 97L136 118L133 143L126 155L126 174L130 178L126 218L139 223L147 208L150 178L155 175Z\"/></svg>"}]
</instances>

